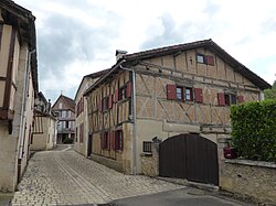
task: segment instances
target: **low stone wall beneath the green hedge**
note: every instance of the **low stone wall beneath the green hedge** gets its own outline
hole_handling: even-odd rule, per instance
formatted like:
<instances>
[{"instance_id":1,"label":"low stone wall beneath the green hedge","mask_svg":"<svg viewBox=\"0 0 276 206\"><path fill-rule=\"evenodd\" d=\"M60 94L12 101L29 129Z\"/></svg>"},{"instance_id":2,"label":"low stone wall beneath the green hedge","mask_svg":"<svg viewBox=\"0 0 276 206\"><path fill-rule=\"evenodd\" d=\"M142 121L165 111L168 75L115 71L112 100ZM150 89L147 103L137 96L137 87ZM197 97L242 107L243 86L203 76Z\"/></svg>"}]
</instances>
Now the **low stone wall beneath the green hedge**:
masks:
<instances>
[{"instance_id":1,"label":"low stone wall beneath the green hedge","mask_svg":"<svg viewBox=\"0 0 276 206\"><path fill-rule=\"evenodd\" d=\"M276 164L225 160L220 186L257 203L276 203Z\"/></svg>"}]
</instances>

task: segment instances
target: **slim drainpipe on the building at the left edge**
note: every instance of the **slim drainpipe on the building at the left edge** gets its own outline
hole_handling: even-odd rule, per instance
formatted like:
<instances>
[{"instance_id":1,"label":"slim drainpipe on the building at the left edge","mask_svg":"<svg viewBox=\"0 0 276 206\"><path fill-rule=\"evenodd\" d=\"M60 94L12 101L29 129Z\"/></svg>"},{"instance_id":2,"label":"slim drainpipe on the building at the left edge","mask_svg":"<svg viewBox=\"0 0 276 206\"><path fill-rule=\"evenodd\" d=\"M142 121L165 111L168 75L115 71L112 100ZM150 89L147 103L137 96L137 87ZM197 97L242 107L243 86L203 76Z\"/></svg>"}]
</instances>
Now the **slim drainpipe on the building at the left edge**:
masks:
<instances>
[{"instance_id":1,"label":"slim drainpipe on the building at the left edge","mask_svg":"<svg viewBox=\"0 0 276 206\"><path fill-rule=\"evenodd\" d=\"M26 63L26 73L25 73L25 85L23 87L23 104L21 108L21 135L20 135L20 144L19 144L19 153L18 153L18 180L20 180L20 173L21 173L21 160L23 158L23 142L24 142L24 135L25 135L25 110L26 110L26 99L28 99L28 91L29 91L29 73L31 69L31 56L35 52L35 48L29 52L28 54L28 63Z\"/></svg>"}]
</instances>

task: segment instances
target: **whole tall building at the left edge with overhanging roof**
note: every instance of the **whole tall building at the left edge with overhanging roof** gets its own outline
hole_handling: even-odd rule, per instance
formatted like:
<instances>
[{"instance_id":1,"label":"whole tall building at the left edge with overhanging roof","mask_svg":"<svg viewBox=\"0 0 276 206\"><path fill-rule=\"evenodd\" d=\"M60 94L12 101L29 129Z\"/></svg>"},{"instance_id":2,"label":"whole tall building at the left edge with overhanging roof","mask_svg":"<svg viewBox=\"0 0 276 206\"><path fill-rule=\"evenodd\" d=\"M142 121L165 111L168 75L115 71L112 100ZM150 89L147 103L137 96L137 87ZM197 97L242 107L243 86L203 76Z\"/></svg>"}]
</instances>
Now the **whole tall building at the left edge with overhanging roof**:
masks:
<instances>
[{"instance_id":1,"label":"whole tall building at the left edge with overhanging roof","mask_svg":"<svg viewBox=\"0 0 276 206\"><path fill-rule=\"evenodd\" d=\"M14 192L29 159L38 94L35 18L0 1L0 191Z\"/></svg>"}]
</instances>

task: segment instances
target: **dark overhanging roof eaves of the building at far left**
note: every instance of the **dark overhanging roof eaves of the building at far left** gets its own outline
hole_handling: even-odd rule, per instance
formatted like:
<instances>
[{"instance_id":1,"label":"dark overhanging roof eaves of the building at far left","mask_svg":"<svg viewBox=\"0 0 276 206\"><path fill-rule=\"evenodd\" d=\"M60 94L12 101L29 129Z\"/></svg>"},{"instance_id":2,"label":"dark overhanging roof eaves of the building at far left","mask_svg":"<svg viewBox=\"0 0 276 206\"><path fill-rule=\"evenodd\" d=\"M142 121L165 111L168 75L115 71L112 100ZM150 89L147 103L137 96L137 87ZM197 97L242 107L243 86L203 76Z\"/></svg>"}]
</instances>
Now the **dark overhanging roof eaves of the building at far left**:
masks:
<instances>
[{"instance_id":1,"label":"dark overhanging roof eaves of the building at far left","mask_svg":"<svg viewBox=\"0 0 276 206\"><path fill-rule=\"evenodd\" d=\"M39 91L38 84L38 59L36 59L36 34L35 34L35 17L31 11L14 3L11 0L1 0L0 8L4 23L11 24L19 29L20 40L29 44L31 53L31 72L33 76L34 90ZM35 95L36 95L35 93Z\"/></svg>"}]
</instances>

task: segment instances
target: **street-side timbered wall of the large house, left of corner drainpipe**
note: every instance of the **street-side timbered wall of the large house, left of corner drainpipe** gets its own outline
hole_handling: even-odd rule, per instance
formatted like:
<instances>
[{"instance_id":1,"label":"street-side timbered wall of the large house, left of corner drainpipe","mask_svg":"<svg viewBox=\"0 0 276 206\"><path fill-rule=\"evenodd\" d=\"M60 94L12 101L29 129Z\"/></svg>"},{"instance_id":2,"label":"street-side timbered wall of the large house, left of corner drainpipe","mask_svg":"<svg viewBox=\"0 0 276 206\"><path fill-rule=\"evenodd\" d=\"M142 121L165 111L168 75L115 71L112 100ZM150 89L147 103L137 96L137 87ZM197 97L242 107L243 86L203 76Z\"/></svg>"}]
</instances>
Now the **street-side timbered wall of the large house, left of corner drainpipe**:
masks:
<instances>
[{"instance_id":1,"label":"street-side timbered wall of the large house, left of corner drainpipe","mask_svg":"<svg viewBox=\"0 0 276 206\"><path fill-rule=\"evenodd\" d=\"M87 96L89 132L93 135L93 155L104 156L106 160L110 160L110 162L116 161L120 164L118 167L125 173L134 172L131 171L131 98L127 97L120 100L115 100L115 96L118 97L119 88L126 87L130 82L129 72L121 72ZM106 97L109 97L113 100L110 108L104 110L102 104L103 99ZM123 150L116 150L112 147L114 142L113 133L117 130L123 131ZM103 149L102 147L104 132L109 132L109 134L113 135L109 138L109 149ZM102 161L102 163L105 162Z\"/></svg>"}]
</instances>

